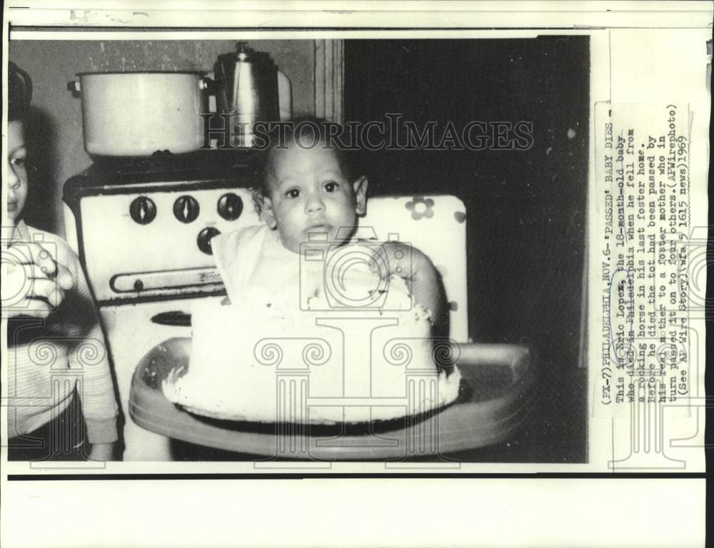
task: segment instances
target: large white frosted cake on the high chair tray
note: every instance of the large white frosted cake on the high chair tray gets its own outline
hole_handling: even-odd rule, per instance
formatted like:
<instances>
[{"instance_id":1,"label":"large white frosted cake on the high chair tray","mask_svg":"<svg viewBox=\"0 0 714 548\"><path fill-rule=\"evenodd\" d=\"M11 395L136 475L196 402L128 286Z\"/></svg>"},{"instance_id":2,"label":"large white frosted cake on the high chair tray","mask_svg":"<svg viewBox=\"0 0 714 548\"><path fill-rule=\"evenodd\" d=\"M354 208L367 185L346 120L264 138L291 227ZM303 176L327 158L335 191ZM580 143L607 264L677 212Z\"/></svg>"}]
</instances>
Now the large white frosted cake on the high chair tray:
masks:
<instances>
[{"instance_id":1,"label":"large white frosted cake on the high chair tray","mask_svg":"<svg viewBox=\"0 0 714 548\"><path fill-rule=\"evenodd\" d=\"M164 381L164 394L211 417L318 424L391 420L456 400L461 372L438 367L449 349L433 344L428 311L401 278L382 283L353 266L339 289L369 305L340 307L319 288L302 307L259 290L201 303L188 371Z\"/></svg>"}]
</instances>

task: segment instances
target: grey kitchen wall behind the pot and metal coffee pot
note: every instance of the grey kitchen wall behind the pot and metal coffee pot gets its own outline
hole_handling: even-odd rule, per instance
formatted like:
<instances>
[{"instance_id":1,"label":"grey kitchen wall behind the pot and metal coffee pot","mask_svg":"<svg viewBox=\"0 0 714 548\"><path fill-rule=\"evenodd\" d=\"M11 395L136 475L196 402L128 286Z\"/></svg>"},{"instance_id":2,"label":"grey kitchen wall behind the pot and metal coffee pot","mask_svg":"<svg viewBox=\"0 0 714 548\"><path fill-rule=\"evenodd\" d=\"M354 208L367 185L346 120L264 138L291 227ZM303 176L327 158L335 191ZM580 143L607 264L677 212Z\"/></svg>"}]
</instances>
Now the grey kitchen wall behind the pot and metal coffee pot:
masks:
<instances>
[{"instance_id":1,"label":"grey kitchen wall behind the pot and metal coffee pot","mask_svg":"<svg viewBox=\"0 0 714 548\"><path fill-rule=\"evenodd\" d=\"M312 114L314 41L256 40L248 46L271 54L291 79L293 113ZM67 83L84 71L212 71L219 54L236 41L10 41L9 59L33 82L33 143L36 170L26 208L29 223L64 235L62 186L91 164L84 151L81 100Z\"/></svg>"}]
</instances>

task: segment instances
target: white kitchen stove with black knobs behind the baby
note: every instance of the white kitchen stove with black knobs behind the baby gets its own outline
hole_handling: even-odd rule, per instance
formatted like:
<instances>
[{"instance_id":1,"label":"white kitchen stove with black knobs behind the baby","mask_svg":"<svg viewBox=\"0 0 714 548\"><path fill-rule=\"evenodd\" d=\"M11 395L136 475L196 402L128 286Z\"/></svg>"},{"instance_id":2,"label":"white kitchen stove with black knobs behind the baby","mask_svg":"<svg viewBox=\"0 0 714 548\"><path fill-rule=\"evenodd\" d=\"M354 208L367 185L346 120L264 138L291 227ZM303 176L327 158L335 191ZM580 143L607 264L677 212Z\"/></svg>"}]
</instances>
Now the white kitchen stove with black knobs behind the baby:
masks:
<instances>
[{"instance_id":1,"label":"white kitchen stove with black knobs behind the baby","mask_svg":"<svg viewBox=\"0 0 714 548\"><path fill-rule=\"evenodd\" d=\"M136 365L171 337L199 299L225 288L211 238L260 223L248 187L251 151L101 158L64 186L67 240L101 316L124 412L124 460L171 460L169 440L129 417Z\"/></svg>"}]
</instances>

